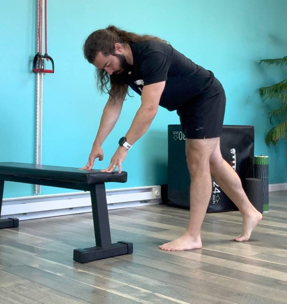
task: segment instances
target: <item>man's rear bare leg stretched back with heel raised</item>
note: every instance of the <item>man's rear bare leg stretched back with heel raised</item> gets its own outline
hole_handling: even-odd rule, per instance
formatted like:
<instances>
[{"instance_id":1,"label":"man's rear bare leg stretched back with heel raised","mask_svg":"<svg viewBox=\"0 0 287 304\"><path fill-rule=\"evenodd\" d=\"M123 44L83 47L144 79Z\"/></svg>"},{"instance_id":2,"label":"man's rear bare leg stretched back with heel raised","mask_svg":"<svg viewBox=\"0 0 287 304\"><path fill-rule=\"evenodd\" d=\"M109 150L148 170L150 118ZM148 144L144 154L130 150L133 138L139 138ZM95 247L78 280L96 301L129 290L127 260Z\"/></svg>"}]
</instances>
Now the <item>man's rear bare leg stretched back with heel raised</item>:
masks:
<instances>
[{"instance_id":1,"label":"man's rear bare leg stretched back with heel raised","mask_svg":"<svg viewBox=\"0 0 287 304\"><path fill-rule=\"evenodd\" d=\"M216 183L238 207L243 217L242 232L234 237L234 240L237 242L248 241L252 230L262 219L262 214L249 201L237 173L222 158L219 141L210 157L210 171Z\"/></svg>"}]
</instances>

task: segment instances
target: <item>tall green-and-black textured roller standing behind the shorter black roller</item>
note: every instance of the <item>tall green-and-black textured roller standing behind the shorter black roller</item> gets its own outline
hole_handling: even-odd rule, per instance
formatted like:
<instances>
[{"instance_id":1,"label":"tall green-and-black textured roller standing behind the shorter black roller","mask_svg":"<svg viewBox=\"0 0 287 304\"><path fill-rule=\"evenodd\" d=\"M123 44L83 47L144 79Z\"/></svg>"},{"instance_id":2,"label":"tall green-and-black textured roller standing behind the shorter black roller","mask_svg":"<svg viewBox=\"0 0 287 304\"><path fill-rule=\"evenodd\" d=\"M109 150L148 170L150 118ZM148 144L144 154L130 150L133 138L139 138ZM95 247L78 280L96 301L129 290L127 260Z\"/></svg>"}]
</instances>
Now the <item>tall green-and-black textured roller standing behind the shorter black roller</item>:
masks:
<instances>
[{"instance_id":1,"label":"tall green-and-black textured roller standing behind the shorter black roller","mask_svg":"<svg viewBox=\"0 0 287 304\"><path fill-rule=\"evenodd\" d=\"M269 211L268 156L254 157L254 177L263 181L263 212Z\"/></svg>"}]
</instances>

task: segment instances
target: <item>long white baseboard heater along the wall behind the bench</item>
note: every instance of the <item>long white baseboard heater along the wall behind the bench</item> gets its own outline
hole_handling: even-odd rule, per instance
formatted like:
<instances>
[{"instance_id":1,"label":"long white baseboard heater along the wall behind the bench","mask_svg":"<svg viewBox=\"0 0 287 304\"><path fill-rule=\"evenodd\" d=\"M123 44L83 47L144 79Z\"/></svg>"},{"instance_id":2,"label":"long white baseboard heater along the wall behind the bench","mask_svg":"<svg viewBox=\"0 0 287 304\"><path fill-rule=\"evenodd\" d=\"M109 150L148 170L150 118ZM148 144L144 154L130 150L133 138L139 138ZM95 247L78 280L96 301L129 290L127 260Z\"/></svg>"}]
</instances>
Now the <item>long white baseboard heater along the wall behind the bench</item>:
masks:
<instances>
[{"instance_id":1,"label":"long white baseboard heater along the wall behind the bench","mask_svg":"<svg viewBox=\"0 0 287 304\"><path fill-rule=\"evenodd\" d=\"M120 209L162 202L160 186L106 190L108 209ZM19 220L92 212L90 192L34 195L3 199L1 219Z\"/></svg>"}]
</instances>

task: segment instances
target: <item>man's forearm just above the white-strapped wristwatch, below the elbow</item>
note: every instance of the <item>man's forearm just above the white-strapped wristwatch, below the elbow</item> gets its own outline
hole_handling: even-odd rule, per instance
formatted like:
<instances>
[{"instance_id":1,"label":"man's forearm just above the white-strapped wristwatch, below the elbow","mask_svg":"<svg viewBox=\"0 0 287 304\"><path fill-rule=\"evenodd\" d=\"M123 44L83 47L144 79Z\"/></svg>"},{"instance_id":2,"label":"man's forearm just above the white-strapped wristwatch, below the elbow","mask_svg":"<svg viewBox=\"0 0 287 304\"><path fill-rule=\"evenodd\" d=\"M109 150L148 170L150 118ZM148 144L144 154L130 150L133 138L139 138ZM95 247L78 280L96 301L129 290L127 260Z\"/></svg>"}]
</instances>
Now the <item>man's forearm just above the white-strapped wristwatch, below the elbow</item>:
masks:
<instances>
[{"instance_id":1,"label":"man's forearm just above the white-strapped wristwatch, below the elbow","mask_svg":"<svg viewBox=\"0 0 287 304\"><path fill-rule=\"evenodd\" d=\"M154 119L156 112L152 108L140 107L135 115L132 125L125 137L127 142L133 145L148 130Z\"/></svg>"}]
</instances>

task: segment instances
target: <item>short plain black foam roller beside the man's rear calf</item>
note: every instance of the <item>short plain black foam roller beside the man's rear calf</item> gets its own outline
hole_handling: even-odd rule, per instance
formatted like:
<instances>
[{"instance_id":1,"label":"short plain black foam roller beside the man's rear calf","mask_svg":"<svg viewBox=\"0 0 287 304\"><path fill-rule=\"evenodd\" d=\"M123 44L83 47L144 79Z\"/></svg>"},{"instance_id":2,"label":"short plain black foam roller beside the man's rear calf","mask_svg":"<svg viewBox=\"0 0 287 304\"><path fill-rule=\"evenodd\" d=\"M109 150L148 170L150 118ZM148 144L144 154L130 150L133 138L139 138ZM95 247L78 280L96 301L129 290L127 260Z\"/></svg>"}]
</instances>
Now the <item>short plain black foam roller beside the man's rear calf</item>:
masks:
<instances>
[{"instance_id":1,"label":"short plain black foam roller beside the man's rear calf","mask_svg":"<svg viewBox=\"0 0 287 304\"><path fill-rule=\"evenodd\" d=\"M246 178L245 192L251 204L263 212L263 181L261 178Z\"/></svg>"}]
</instances>

